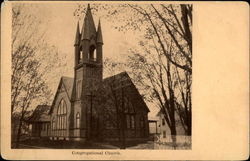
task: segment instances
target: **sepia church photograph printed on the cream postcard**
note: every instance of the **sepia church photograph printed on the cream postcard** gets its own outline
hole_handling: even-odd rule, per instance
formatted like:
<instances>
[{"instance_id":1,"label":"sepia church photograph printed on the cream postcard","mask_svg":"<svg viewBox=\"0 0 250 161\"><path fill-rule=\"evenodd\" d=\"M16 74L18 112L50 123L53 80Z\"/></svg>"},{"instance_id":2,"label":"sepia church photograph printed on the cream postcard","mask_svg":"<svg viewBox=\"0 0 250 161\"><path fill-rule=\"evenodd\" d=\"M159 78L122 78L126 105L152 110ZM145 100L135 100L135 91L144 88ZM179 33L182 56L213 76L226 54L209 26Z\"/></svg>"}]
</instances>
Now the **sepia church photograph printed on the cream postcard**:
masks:
<instances>
[{"instance_id":1,"label":"sepia church photograph printed on the cream postcard","mask_svg":"<svg viewBox=\"0 0 250 161\"><path fill-rule=\"evenodd\" d=\"M11 148L192 147L192 5L13 3Z\"/></svg>"}]
</instances>

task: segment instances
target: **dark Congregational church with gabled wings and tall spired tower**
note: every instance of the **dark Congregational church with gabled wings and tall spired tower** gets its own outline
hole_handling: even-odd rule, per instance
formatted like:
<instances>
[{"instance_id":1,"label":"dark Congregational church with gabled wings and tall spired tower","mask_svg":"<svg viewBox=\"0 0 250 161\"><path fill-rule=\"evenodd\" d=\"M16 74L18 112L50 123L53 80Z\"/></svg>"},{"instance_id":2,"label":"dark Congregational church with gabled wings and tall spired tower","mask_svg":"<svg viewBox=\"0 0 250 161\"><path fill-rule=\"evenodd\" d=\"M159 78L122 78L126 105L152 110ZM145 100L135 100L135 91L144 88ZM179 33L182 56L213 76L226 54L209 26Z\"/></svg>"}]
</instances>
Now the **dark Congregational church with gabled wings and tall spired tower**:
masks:
<instances>
[{"instance_id":1,"label":"dark Congregational church with gabled wings and tall spired tower","mask_svg":"<svg viewBox=\"0 0 250 161\"><path fill-rule=\"evenodd\" d=\"M74 78L62 77L51 108L51 140L147 140L148 112L126 72L103 78L103 36L90 6L76 27Z\"/></svg>"}]
</instances>

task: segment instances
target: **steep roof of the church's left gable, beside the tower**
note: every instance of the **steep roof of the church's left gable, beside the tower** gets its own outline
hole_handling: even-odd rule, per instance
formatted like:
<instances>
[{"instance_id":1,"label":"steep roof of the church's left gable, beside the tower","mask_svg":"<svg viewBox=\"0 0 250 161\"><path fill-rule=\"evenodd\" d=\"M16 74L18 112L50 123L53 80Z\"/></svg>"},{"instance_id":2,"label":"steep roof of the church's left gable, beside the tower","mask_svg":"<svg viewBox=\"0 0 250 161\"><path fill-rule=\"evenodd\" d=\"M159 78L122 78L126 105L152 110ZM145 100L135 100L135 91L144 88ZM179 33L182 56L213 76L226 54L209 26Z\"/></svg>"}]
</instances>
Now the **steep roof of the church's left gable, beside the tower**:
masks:
<instances>
[{"instance_id":1,"label":"steep roof of the church's left gable, beside the tower","mask_svg":"<svg viewBox=\"0 0 250 161\"><path fill-rule=\"evenodd\" d=\"M73 91L73 85L74 85L74 78L65 77L65 76L62 76L62 77L61 77L60 82L59 82L59 85L58 85L58 87L57 87L57 91L56 91L54 100L53 100L52 105L51 105L51 109L50 109L50 111L49 111L49 114L51 114L51 112L52 112L52 110L53 110L53 107L54 107L54 104L55 104L57 95L58 95L58 93L59 93L59 91L60 91L60 87L63 86L63 87L65 88L66 93L67 93L67 96L68 96L69 100L71 100L72 91Z\"/></svg>"}]
</instances>

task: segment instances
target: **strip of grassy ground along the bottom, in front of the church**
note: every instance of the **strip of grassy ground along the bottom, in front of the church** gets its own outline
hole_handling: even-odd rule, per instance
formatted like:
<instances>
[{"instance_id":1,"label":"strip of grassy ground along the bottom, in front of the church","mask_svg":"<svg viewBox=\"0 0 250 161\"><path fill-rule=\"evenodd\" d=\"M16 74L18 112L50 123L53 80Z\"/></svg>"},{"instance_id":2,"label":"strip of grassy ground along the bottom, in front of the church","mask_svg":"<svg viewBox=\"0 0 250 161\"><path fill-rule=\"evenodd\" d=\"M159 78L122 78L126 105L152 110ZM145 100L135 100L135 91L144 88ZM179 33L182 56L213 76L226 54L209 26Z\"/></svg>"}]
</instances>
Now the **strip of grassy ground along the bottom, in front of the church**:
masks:
<instances>
[{"instance_id":1,"label":"strip of grassy ground along the bottom, in front of the church","mask_svg":"<svg viewBox=\"0 0 250 161\"><path fill-rule=\"evenodd\" d=\"M13 143L14 145L14 143ZM26 145L26 146L23 146ZM191 149L191 144L187 143L154 143L153 141L126 141L126 149ZM34 147L29 147L34 146ZM49 139L27 139L20 142L20 149L33 149L40 147L43 149L119 149L121 143L110 142L81 142ZM12 146L13 148L13 146Z\"/></svg>"}]
</instances>

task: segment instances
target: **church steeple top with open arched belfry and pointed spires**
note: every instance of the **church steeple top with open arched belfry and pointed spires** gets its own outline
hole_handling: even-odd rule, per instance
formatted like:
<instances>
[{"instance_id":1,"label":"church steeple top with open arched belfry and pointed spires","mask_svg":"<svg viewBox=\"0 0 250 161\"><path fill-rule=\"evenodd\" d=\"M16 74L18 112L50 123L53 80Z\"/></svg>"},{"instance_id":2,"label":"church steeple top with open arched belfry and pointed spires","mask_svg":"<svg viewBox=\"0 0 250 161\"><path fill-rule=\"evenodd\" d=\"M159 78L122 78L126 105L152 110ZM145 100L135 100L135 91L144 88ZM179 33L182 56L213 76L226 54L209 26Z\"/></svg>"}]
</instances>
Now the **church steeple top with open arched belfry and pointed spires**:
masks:
<instances>
[{"instance_id":1,"label":"church steeple top with open arched belfry and pointed spires","mask_svg":"<svg viewBox=\"0 0 250 161\"><path fill-rule=\"evenodd\" d=\"M102 45L103 37L100 20L96 29L90 5L88 5L81 33L79 33L79 24L77 24L75 39L75 67L80 68L83 64L91 64L92 66L102 68Z\"/></svg>"}]
</instances>

